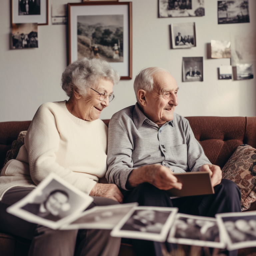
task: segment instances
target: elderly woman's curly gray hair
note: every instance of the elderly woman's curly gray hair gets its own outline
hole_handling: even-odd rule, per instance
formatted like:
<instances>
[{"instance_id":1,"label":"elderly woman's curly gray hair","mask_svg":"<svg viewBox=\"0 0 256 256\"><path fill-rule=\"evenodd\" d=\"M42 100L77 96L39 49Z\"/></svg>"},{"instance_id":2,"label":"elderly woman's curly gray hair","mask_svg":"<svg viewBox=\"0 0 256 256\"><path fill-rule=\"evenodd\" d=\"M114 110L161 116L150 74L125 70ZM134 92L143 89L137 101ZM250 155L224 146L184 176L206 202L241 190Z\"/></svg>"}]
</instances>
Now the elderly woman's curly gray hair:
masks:
<instances>
[{"instance_id":1,"label":"elderly woman's curly gray hair","mask_svg":"<svg viewBox=\"0 0 256 256\"><path fill-rule=\"evenodd\" d=\"M72 96L74 90L84 97L88 88L97 86L102 78L118 84L120 74L105 60L82 58L66 67L61 76L61 86L68 97Z\"/></svg>"}]
</instances>

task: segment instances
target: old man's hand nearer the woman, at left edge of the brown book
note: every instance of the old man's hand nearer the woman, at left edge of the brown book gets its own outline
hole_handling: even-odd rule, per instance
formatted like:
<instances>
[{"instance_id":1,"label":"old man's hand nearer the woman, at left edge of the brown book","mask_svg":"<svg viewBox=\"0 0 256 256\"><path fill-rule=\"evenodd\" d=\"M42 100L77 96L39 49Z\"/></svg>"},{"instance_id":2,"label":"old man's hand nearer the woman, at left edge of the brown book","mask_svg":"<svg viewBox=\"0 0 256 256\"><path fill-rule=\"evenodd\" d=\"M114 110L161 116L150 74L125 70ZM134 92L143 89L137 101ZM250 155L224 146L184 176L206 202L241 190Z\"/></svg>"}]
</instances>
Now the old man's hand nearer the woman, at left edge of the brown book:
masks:
<instances>
[{"instance_id":1,"label":"old man's hand nearer the woman, at left edge of the brown book","mask_svg":"<svg viewBox=\"0 0 256 256\"><path fill-rule=\"evenodd\" d=\"M146 167L146 180L155 187L168 190L182 188L182 183L171 173L170 169L160 164L151 164Z\"/></svg>"}]
</instances>

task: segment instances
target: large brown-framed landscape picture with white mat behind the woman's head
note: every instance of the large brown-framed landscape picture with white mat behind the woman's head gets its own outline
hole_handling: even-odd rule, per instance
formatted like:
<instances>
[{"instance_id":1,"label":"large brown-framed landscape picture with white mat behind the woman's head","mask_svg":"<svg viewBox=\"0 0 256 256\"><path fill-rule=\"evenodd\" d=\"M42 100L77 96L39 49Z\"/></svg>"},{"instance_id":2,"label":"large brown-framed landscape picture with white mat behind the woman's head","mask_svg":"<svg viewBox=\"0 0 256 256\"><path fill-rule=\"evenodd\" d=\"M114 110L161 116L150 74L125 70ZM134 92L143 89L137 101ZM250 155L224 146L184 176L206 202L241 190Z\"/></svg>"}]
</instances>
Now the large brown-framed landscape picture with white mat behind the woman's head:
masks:
<instances>
[{"instance_id":1,"label":"large brown-framed landscape picture with white mat behind the woman's head","mask_svg":"<svg viewBox=\"0 0 256 256\"><path fill-rule=\"evenodd\" d=\"M101 58L132 79L132 2L68 4L69 63Z\"/></svg>"}]
</instances>

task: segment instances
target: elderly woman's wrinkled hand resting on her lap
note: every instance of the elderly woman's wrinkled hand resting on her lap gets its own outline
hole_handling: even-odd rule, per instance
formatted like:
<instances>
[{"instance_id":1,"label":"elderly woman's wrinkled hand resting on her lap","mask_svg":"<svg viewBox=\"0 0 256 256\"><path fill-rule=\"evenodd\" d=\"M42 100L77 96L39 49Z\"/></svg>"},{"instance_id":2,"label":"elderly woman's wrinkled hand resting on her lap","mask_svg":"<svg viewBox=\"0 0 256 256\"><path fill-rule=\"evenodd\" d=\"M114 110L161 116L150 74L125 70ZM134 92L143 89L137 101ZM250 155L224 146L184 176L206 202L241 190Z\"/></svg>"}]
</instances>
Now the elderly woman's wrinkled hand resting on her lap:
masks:
<instances>
[{"instance_id":1,"label":"elderly woman's wrinkled hand resting on her lap","mask_svg":"<svg viewBox=\"0 0 256 256\"><path fill-rule=\"evenodd\" d=\"M90 196L101 196L113 199L119 203L123 202L123 194L115 184L97 183L91 190Z\"/></svg>"}]
</instances>

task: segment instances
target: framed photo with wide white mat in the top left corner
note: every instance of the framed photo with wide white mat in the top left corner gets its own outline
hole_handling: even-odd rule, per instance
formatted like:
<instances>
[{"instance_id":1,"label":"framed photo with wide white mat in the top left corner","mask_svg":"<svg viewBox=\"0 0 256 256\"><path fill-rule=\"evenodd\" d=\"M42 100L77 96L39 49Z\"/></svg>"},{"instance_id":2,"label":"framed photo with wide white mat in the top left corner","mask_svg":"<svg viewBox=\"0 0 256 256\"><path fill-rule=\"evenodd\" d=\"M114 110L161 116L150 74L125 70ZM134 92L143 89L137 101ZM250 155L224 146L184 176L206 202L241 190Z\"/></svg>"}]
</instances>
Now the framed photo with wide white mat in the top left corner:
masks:
<instances>
[{"instance_id":1,"label":"framed photo with wide white mat in the top left corner","mask_svg":"<svg viewBox=\"0 0 256 256\"><path fill-rule=\"evenodd\" d=\"M12 24L48 25L48 0L11 0Z\"/></svg>"}]
</instances>

